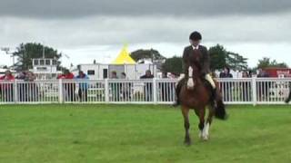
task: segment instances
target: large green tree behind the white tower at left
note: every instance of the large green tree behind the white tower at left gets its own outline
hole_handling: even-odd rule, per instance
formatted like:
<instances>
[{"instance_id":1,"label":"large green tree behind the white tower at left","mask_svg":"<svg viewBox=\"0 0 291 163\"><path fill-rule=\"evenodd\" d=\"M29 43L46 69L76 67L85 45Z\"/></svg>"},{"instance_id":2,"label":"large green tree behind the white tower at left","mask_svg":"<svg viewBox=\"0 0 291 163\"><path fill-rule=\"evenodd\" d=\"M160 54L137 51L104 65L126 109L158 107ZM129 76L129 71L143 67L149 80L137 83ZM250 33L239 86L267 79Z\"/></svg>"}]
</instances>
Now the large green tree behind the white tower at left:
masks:
<instances>
[{"instance_id":1,"label":"large green tree behind the white tower at left","mask_svg":"<svg viewBox=\"0 0 291 163\"><path fill-rule=\"evenodd\" d=\"M45 50L45 51L44 51ZM16 47L16 52L14 55L17 57L17 62L15 63L15 68L18 71L28 70L32 68L32 59L42 58L43 52L45 52L45 58L57 60L57 68L60 70L59 62L62 53L58 53L52 47L47 47L41 43L21 43Z\"/></svg>"}]
</instances>

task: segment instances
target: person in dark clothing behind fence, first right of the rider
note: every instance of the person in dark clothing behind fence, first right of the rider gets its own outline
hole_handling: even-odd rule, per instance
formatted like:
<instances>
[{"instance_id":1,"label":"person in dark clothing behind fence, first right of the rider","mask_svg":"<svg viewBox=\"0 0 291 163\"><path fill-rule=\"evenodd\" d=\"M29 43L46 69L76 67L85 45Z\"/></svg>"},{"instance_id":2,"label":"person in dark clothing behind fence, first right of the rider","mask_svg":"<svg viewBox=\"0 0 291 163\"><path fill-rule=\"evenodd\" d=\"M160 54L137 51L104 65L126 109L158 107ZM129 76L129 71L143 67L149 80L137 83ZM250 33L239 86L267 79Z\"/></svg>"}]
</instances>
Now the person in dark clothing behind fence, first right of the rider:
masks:
<instances>
[{"instance_id":1,"label":"person in dark clothing behind fence, first right of the rider","mask_svg":"<svg viewBox=\"0 0 291 163\"><path fill-rule=\"evenodd\" d=\"M219 74L219 78L233 78L229 67L225 67L224 72ZM232 82L221 82L220 88L223 92L224 101L232 101Z\"/></svg>"}]
</instances>

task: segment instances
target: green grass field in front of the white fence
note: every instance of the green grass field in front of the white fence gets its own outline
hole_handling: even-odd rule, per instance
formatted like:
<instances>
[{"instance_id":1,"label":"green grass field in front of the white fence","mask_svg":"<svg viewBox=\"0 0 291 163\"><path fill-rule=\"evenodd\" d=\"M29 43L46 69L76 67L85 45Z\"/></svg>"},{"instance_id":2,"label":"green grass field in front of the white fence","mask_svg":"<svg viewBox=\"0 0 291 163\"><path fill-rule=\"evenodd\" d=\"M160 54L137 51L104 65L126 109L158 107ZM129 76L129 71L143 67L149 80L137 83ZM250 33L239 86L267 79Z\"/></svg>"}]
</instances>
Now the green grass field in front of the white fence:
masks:
<instances>
[{"instance_id":1,"label":"green grass field in front of the white fence","mask_svg":"<svg viewBox=\"0 0 291 163\"><path fill-rule=\"evenodd\" d=\"M0 105L0 162L291 162L291 107L229 106L211 139L183 144L180 110L154 105Z\"/></svg>"}]
</instances>

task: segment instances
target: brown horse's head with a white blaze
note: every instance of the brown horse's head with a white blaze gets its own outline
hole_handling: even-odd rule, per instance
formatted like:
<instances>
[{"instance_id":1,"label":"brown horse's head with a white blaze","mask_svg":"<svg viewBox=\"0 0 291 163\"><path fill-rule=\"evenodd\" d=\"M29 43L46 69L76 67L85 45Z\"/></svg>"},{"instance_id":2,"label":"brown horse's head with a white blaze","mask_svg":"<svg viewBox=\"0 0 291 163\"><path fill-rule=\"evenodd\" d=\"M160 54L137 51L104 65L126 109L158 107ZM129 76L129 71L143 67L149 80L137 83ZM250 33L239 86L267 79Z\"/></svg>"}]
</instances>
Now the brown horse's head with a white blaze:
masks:
<instances>
[{"instance_id":1,"label":"brown horse's head with a white blaze","mask_svg":"<svg viewBox=\"0 0 291 163\"><path fill-rule=\"evenodd\" d=\"M201 64L199 63L202 53L199 50L194 50L193 54L189 56L188 60L188 77L187 89L194 90L196 83L200 82Z\"/></svg>"}]
</instances>

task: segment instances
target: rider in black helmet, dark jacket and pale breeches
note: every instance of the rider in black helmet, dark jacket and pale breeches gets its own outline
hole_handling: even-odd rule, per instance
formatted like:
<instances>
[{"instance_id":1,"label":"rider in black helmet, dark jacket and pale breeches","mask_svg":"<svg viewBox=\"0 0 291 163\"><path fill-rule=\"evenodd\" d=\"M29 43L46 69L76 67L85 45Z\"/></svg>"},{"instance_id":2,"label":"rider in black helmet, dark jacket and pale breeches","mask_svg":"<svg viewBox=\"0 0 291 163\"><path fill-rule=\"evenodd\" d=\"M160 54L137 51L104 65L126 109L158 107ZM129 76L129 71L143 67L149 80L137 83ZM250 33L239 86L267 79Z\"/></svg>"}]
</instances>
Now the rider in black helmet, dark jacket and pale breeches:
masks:
<instances>
[{"instance_id":1,"label":"rider in black helmet, dark jacket and pale breeches","mask_svg":"<svg viewBox=\"0 0 291 163\"><path fill-rule=\"evenodd\" d=\"M200 58L200 63L201 63L201 74L202 76L206 79L207 82L209 82L213 88L213 96L214 98L216 98L216 83L214 82L214 80L212 79L211 75L210 75L210 57L209 57L209 53L206 49L205 46L201 45L202 36L200 33L198 32L193 32L192 34L190 34L189 36L189 41L191 43L191 45L186 46L186 48L184 49L184 53L183 53L183 62L184 62L184 72L186 72L186 62L189 59L189 56L191 54L193 54L194 50L199 50L202 53L202 56ZM176 103L174 104L174 106L179 105L179 99L178 99L178 94L181 90L181 86L180 86L180 82L185 78L185 74L181 74L180 78L176 84Z\"/></svg>"}]
</instances>

